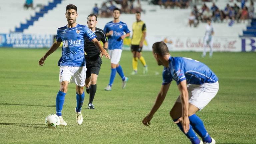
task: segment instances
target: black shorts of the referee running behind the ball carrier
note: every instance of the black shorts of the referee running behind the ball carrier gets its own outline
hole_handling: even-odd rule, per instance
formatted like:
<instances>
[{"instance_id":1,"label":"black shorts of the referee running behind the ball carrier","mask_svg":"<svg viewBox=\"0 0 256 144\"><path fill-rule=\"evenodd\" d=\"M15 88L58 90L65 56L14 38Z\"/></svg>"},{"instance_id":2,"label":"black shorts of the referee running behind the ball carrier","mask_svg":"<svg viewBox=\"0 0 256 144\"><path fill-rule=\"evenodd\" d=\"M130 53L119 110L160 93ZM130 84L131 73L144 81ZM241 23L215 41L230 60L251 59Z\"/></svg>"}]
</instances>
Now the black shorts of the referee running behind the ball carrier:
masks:
<instances>
[{"instance_id":1,"label":"black shorts of the referee running behind the ball carrier","mask_svg":"<svg viewBox=\"0 0 256 144\"><path fill-rule=\"evenodd\" d=\"M86 66L86 79L91 76L91 74L99 75L100 65L102 64L101 58L98 56L96 58L85 58Z\"/></svg>"}]
</instances>

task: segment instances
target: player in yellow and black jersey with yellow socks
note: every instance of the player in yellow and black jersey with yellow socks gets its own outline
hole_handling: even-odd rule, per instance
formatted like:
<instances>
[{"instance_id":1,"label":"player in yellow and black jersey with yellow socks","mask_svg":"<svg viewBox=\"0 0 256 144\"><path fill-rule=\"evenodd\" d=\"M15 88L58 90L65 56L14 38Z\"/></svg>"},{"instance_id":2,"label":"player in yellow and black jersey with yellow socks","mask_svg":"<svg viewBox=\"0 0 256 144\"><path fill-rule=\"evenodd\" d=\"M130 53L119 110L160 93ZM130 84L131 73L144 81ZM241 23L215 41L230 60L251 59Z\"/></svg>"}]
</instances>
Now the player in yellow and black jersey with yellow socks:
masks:
<instances>
[{"instance_id":1,"label":"player in yellow and black jersey with yellow socks","mask_svg":"<svg viewBox=\"0 0 256 144\"><path fill-rule=\"evenodd\" d=\"M140 20L141 13L136 12L136 22L133 23L132 25L132 41L131 41L131 51L133 54L133 59L132 59L132 75L137 74L138 71L138 60L141 61L143 64L143 74L146 74L148 72L148 67L146 64L146 61L144 57L141 55L142 47L143 47L143 42L146 37L146 24Z\"/></svg>"}]
</instances>

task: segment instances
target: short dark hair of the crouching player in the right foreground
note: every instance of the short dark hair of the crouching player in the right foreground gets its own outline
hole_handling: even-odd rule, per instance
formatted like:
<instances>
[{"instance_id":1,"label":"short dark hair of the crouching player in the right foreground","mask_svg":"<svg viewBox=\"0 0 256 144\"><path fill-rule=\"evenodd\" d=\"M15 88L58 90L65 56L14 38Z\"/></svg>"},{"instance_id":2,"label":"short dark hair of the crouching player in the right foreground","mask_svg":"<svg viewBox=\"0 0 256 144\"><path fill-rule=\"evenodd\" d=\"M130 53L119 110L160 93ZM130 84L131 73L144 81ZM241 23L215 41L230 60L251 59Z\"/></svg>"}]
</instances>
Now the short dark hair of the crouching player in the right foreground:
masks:
<instances>
[{"instance_id":1,"label":"short dark hair of the crouching player in the right foreground","mask_svg":"<svg viewBox=\"0 0 256 144\"><path fill-rule=\"evenodd\" d=\"M165 42L163 41L155 42L152 48L153 48L153 53L158 54L160 56L164 56L169 53L169 49L165 44Z\"/></svg>"}]
</instances>

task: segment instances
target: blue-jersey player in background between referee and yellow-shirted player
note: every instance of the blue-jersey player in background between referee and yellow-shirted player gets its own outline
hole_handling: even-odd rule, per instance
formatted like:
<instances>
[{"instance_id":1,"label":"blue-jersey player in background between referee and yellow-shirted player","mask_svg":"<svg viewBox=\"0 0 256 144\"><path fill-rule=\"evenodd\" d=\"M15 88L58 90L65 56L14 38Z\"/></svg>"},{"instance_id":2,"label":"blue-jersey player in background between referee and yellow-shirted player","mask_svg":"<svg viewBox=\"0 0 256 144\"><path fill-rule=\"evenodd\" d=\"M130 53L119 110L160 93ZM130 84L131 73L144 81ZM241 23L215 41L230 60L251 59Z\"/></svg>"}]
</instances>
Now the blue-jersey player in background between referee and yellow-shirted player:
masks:
<instances>
[{"instance_id":1,"label":"blue-jersey player in background between referee and yellow-shirted player","mask_svg":"<svg viewBox=\"0 0 256 144\"><path fill-rule=\"evenodd\" d=\"M119 20L120 16L120 9L115 8L113 10L113 17L114 20L107 23L104 27L104 31L106 36L108 37L108 49L109 55L111 57L111 74L108 86L105 90L110 91L112 84L114 82L116 72L122 78L123 84L122 88L125 88L126 82L128 78L124 76L123 70L121 65L119 64L122 48L123 48L123 39L125 37L130 36L130 30L128 29L126 23L123 23ZM126 34L124 34L124 32Z\"/></svg>"}]
</instances>

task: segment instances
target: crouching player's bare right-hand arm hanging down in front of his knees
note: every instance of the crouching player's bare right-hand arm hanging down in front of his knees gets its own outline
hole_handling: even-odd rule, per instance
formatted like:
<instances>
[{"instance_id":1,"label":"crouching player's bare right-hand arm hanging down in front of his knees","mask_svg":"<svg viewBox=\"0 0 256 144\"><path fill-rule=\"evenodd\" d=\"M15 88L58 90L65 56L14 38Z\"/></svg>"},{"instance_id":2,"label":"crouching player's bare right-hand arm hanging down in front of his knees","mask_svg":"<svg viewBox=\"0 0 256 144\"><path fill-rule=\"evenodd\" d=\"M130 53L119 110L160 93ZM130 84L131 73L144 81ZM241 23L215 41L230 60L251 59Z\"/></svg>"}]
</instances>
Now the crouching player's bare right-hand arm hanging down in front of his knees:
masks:
<instances>
[{"instance_id":1,"label":"crouching player's bare right-hand arm hanging down in front of his knees","mask_svg":"<svg viewBox=\"0 0 256 144\"><path fill-rule=\"evenodd\" d=\"M179 91L181 92L181 104L182 104L182 114L181 117L175 122L181 122L184 133L189 130L189 119L188 119L188 89L187 81L183 80L178 84Z\"/></svg>"}]
</instances>

